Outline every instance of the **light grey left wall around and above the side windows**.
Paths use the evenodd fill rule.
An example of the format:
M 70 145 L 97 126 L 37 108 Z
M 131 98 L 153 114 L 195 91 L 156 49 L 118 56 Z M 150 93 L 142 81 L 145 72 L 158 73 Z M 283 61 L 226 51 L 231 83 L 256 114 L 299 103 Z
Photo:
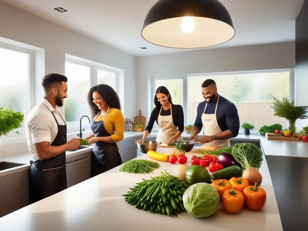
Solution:
M 103 28 L 97 29 L 103 30 Z M 45 56 L 45 63 L 43 63 L 45 70 L 42 75 L 48 73 L 64 75 L 65 54 L 124 70 L 122 85 L 125 86 L 125 89 L 124 95 L 121 97 L 121 104 L 124 106 L 125 117 L 133 118 L 135 116 L 136 58 L 134 56 L 2 1 L 0 1 L 0 37 L 44 49 L 42 53 L 36 52 L 39 56 Z M 41 67 L 43 64 L 41 63 Z M 43 97 L 43 89 L 40 86 L 42 75 L 35 76 L 36 103 Z M 120 86 L 120 90 L 123 89 L 123 86 Z M 126 100 L 124 101 L 124 99 Z

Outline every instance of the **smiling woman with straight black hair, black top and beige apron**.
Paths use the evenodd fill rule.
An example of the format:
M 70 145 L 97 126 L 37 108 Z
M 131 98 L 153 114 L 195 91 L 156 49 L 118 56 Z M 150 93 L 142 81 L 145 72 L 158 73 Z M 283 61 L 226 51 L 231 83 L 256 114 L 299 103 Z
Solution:
M 172 104 L 171 95 L 164 86 L 156 89 L 154 96 L 155 108 L 153 109 L 148 126 L 145 128 L 142 140 L 151 133 L 154 122 L 160 127 L 156 141 L 163 144 L 172 144 L 174 140 L 183 141 L 181 134 L 184 131 L 184 112 L 181 105 Z

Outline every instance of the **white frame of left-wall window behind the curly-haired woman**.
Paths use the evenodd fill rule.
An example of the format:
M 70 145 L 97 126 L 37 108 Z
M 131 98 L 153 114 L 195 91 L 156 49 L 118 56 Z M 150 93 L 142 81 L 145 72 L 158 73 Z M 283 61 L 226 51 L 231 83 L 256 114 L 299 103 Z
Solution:
M 100 65 L 95 65 L 95 64 L 92 64 L 92 63 L 87 63 L 87 62 L 84 62 L 84 61 L 80 61 L 80 60 L 77 60 L 77 59 L 72 59 L 72 58 L 69 58 L 69 57 L 66 57 L 65 58 L 65 63 L 73 63 L 73 64 L 77 64 L 77 65 L 81 65 L 81 66 L 86 66 L 86 67 L 89 67 L 90 68 L 90 79 L 89 79 L 89 90 L 91 87 L 94 87 L 95 85 L 97 85 L 97 70 L 102 70 L 102 71 L 108 71 L 108 72 L 112 72 L 114 73 L 115 77 L 114 77 L 114 86 L 115 86 L 115 92 L 118 94 L 118 89 L 119 89 L 119 71 L 116 71 L 114 69 L 111 69 L 111 68 L 107 68 L 107 67 L 104 67 L 104 65 L 102 64 L 101 66 Z M 63 115 L 65 115 L 65 107 L 63 107 L 61 109 L 61 112 L 63 111 Z M 65 118 L 65 117 L 64 117 Z M 90 118 L 91 120 L 91 118 Z M 84 128 L 85 131 L 87 130 L 90 130 L 91 127 L 90 127 L 90 124 L 87 123 L 88 120 L 83 118 L 83 120 L 81 121 L 81 127 L 82 129 Z M 78 121 L 71 121 L 71 122 L 66 122 L 65 123 L 67 124 L 67 131 L 68 132 L 75 132 L 75 131 L 79 131 L 80 129 L 80 120 Z M 78 132 L 79 133 L 79 132 Z

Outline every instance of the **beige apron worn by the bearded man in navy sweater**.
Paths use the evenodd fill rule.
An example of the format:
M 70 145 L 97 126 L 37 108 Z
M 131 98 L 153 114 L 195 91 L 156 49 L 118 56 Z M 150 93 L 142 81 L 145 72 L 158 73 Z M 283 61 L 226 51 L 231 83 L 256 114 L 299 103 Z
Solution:
M 214 136 L 217 133 L 222 132 L 216 118 L 216 111 L 218 106 L 219 95 L 216 103 L 215 113 L 214 114 L 205 114 L 206 103 L 203 114 L 201 116 L 202 126 L 203 126 L 203 135 L 204 136 Z M 212 142 L 205 143 L 203 146 L 212 146 L 212 147 L 230 147 L 230 141 L 227 140 L 213 140 Z

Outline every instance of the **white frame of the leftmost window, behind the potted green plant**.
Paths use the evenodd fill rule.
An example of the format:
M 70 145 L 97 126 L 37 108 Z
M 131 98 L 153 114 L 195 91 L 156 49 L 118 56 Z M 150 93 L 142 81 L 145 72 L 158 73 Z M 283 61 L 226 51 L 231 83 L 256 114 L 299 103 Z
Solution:
M 26 49 L 23 47 L 14 46 L 7 43 L 1 43 L 0 42 L 0 48 L 15 51 L 23 54 L 28 55 L 28 105 L 27 105 L 27 114 L 24 115 L 24 124 L 26 122 L 27 116 L 29 115 L 29 112 L 31 109 L 35 106 L 35 51 Z M 25 126 L 25 125 L 24 125 Z M 16 132 L 19 132 L 17 134 Z M 13 131 L 9 132 L 6 136 L 0 136 L 0 140 L 5 139 L 11 139 L 11 138 L 17 138 L 17 137 L 23 137 L 26 136 L 26 131 L 24 127 L 14 129 Z

